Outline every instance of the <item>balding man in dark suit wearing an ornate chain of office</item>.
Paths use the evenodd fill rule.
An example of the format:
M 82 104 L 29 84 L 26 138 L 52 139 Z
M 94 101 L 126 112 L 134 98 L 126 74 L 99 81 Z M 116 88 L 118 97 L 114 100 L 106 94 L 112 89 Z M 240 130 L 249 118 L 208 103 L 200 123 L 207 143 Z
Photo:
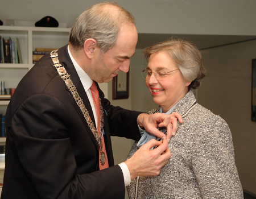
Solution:
M 129 70 L 137 39 L 130 13 L 100 3 L 77 18 L 69 45 L 44 56 L 24 76 L 7 108 L 1 198 L 119 199 L 134 177 L 159 174 L 171 157 L 166 139 L 151 140 L 114 165 L 110 135 L 138 140 L 139 125 L 162 138 L 155 128 L 160 123 L 168 139 L 170 117 L 114 107 L 95 83 Z

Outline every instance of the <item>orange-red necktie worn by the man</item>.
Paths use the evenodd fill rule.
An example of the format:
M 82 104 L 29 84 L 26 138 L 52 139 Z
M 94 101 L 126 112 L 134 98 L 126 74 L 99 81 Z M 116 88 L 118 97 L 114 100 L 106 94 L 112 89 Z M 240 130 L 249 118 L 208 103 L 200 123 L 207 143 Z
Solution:
M 92 97 L 93 97 L 93 102 L 94 102 L 94 106 L 96 109 L 96 114 L 97 114 L 97 130 L 98 130 L 98 135 L 100 136 L 100 127 L 101 127 L 101 108 L 100 108 L 100 97 L 98 96 L 98 89 L 97 86 L 95 84 L 95 82 L 93 81 L 92 86 L 90 86 L 90 92 L 92 93 Z M 108 161 L 108 156 L 106 154 L 106 147 L 105 147 L 105 142 L 104 142 L 104 136 L 102 136 L 102 151 L 105 153 L 106 156 L 106 160 L 105 160 L 105 164 L 102 165 L 100 158 L 101 158 L 101 150 L 100 150 L 100 146 L 99 148 L 99 163 L 100 163 L 100 170 L 108 168 L 109 167 L 109 161 Z

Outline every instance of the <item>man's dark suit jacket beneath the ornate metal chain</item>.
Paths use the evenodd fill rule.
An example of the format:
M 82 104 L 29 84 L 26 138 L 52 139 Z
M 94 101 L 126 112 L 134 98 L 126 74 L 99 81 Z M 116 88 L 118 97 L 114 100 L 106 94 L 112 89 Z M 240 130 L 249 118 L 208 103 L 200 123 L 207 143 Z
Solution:
M 68 55 L 60 63 L 92 109 Z M 99 170 L 98 143 L 49 54 L 24 76 L 6 113 L 6 169 L 1 198 L 124 198 L 121 168 L 114 166 L 110 135 L 140 138 L 140 113 L 110 105 L 100 91 L 110 168 Z

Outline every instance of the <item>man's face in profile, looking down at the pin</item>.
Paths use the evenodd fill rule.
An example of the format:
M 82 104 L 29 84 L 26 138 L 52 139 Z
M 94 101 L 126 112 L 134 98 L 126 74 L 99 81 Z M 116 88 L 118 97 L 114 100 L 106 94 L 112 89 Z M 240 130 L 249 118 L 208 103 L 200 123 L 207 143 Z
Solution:
M 114 47 L 105 53 L 96 47 L 97 56 L 92 62 L 89 76 L 101 83 L 112 81 L 120 71 L 127 73 L 137 41 L 138 33 L 134 24 L 123 24 Z

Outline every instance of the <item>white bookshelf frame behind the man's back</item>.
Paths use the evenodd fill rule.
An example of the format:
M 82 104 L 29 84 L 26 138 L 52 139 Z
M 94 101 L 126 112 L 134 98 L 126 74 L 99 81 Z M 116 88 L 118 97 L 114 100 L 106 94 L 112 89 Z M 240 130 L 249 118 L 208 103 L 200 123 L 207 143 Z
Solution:
M 35 48 L 60 48 L 68 44 L 71 28 L 0 26 L 0 35 L 7 39 L 19 39 L 22 64 L 0 63 L 0 81 L 5 88 L 16 88 L 22 77 L 34 66 L 32 60 Z M 0 113 L 6 113 L 9 100 L 0 100 Z M 0 138 L 5 145 L 6 138 Z

